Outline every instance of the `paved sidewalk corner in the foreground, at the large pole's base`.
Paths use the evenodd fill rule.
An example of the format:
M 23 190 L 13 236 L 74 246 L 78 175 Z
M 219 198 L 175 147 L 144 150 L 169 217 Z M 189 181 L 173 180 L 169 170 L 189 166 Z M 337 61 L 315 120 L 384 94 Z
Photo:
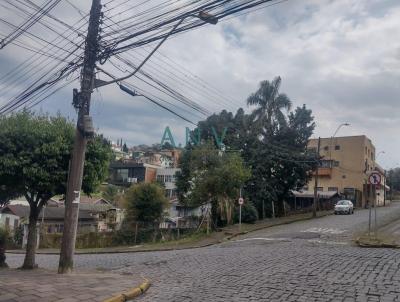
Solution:
M 142 278 L 131 275 L 95 272 L 60 275 L 43 269 L 0 269 L 0 301 L 104 301 L 142 282 Z

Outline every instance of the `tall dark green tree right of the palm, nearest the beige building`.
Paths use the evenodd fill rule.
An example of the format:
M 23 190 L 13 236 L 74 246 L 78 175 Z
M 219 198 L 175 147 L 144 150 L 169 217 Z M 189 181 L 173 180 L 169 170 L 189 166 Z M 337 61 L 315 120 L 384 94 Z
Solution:
M 307 151 L 314 127 L 311 110 L 298 107 L 274 135 L 257 140 L 249 150 L 252 178 L 246 192 L 260 216 L 273 212 L 275 206 L 276 214 L 284 214 L 284 200 L 290 197 L 290 191 L 307 184 L 316 164 L 315 154 Z

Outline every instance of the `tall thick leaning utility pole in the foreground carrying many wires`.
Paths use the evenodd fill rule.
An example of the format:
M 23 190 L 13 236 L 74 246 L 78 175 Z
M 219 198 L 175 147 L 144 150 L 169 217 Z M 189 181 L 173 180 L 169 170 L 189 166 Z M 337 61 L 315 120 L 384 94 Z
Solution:
M 90 98 L 94 87 L 95 66 L 98 51 L 98 35 L 101 18 L 100 0 L 92 0 L 88 34 L 85 42 L 85 57 L 81 71 L 81 91 L 74 90 L 74 106 L 78 110 L 74 149 L 68 174 L 67 195 L 65 200 L 64 231 L 61 244 L 59 273 L 69 273 L 73 269 L 75 240 L 78 226 L 80 191 L 82 187 L 83 167 L 86 143 L 94 134 L 89 116 Z

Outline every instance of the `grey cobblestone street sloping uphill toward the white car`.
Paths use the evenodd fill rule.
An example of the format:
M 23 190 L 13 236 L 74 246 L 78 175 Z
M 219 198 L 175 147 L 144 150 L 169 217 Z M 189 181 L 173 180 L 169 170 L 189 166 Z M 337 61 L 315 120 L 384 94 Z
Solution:
M 400 217 L 400 204 L 378 209 Z M 383 219 L 384 218 L 384 219 Z M 149 277 L 138 301 L 400 301 L 400 254 L 358 248 L 368 211 L 328 216 L 250 233 L 208 248 L 112 255 L 78 255 L 76 266 Z M 19 255 L 8 262 L 18 265 Z M 57 257 L 39 255 L 40 266 Z M 128 276 L 127 276 L 128 277 Z

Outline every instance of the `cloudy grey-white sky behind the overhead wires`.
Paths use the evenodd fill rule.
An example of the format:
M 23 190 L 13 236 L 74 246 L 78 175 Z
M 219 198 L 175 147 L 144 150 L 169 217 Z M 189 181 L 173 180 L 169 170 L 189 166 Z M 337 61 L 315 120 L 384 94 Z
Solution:
M 70 2 L 82 12 L 89 10 L 89 1 Z M 133 0 L 121 7 L 122 11 L 129 13 L 129 2 Z M 71 24 L 80 17 L 71 7 L 58 8 L 54 14 Z M 4 10 L 0 17 L 7 17 Z M 109 17 L 115 22 L 122 19 L 121 15 Z M 0 33 L 9 31 L 0 23 Z M 38 31 L 46 34 L 45 29 Z M 391 168 L 400 166 L 399 37 L 398 0 L 287 0 L 177 35 L 161 46 L 144 70 L 210 112 L 235 112 L 239 107 L 250 111 L 246 98 L 259 83 L 281 76 L 281 92 L 290 97 L 294 107 L 306 104 L 313 111 L 314 137 L 330 137 L 340 124 L 350 123 L 338 136 L 368 136 L 379 154 L 377 161 Z M 139 50 L 130 52 L 137 62 L 144 57 Z M 24 60 L 26 53 L 15 46 L 0 50 L 0 78 Z M 131 83 L 142 85 L 136 79 Z M 190 86 L 193 84 L 196 90 Z M 78 82 L 40 103 L 36 110 L 59 111 L 74 119 L 73 87 L 78 87 Z M 4 100 L 0 95 L 0 104 Z M 180 112 L 195 123 L 205 118 Z M 193 128 L 116 86 L 94 92 L 91 114 L 98 132 L 114 141 L 122 138 L 128 145 L 159 143 L 166 126 L 176 142 L 184 143 L 185 127 Z

